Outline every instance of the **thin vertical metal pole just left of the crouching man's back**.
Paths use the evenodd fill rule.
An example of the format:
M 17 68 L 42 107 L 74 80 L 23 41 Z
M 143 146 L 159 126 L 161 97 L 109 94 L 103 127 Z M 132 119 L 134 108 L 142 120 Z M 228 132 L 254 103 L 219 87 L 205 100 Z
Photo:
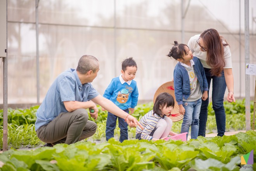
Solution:
M 38 49 L 38 3 L 36 0 L 36 97 L 37 103 L 40 103 L 40 82 L 39 82 L 39 49 Z

